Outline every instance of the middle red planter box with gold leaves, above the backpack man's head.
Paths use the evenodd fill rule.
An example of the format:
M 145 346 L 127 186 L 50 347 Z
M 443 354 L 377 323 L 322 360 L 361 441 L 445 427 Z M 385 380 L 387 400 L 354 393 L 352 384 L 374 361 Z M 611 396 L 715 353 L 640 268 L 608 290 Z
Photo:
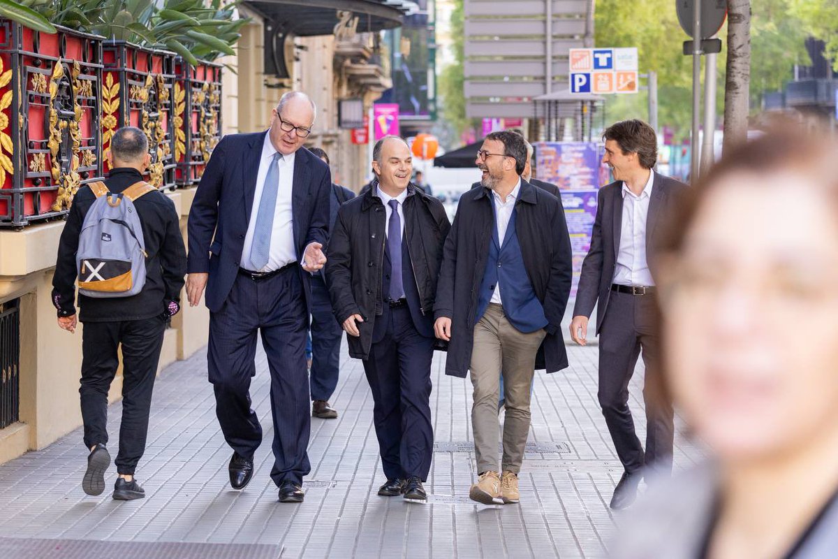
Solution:
M 174 53 L 151 50 L 125 41 L 102 45 L 102 158 L 117 128 L 146 132 L 152 163 L 145 175 L 158 189 L 175 186 L 173 86 Z

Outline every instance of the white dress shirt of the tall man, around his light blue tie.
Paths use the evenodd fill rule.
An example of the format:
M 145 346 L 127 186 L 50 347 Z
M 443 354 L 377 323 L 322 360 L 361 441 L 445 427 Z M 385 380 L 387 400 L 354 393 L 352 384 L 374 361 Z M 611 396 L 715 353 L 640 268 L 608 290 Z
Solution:
M 291 196 L 294 184 L 294 159 L 297 153 L 283 156 L 278 162 L 279 166 L 279 189 L 277 190 L 277 205 L 273 214 L 273 230 L 271 233 L 271 252 L 267 264 L 261 270 L 251 263 L 251 248 L 253 246 L 253 235 L 256 231 L 256 216 L 259 215 L 259 202 L 261 201 L 262 190 L 265 188 L 265 178 L 271 165 L 271 159 L 277 150 L 271 143 L 271 138 L 265 132 L 265 141 L 262 143 L 261 157 L 259 158 L 259 173 L 256 174 L 256 191 L 253 193 L 253 207 L 251 208 L 251 220 L 247 225 L 245 246 L 241 251 L 241 267 L 254 272 L 272 272 L 283 266 L 297 261 L 297 249 L 294 247 L 293 213 Z M 303 255 L 300 255 L 301 257 Z

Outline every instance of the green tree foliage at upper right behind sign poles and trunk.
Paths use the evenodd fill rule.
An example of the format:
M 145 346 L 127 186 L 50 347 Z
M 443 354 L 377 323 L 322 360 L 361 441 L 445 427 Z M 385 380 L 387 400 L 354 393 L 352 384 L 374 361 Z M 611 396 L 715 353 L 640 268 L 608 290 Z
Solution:
M 795 64 L 806 64 L 806 33 L 799 18 L 789 13 L 794 3 L 812 0 L 760 0 L 752 5 L 751 28 L 751 110 L 760 108 L 763 91 L 782 89 L 791 80 Z M 832 3 L 834 0 L 816 0 Z M 838 21 L 833 29 L 838 28 Z M 595 41 L 603 47 L 637 47 L 640 71 L 658 73 L 660 126 L 675 129 L 675 137 L 686 137 L 691 128 L 692 59 L 682 54 L 689 39 L 680 28 L 673 0 L 621 2 L 598 0 L 595 13 Z M 724 65 L 727 57 L 727 24 L 716 35 L 722 39 L 717 56 L 718 93 L 716 107 L 724 111 Z M 701 72 L 704 80 L 704 70 Z M 607 101 L 609 122 L 623 118 L 648 118 L 647 97 L 612 96 Z

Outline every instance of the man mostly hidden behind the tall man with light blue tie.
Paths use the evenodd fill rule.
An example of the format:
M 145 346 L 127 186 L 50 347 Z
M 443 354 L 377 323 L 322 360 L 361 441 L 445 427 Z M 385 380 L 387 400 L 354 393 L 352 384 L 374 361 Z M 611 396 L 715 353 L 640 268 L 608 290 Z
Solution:
M 328 153 L 322 148 L 311 148 L 311 153 L 321 158 L 328 165 Z M 328 230 L 334 228 L 338 218 L 338 209 L 344 202 L 353 199 L 351 190 L 332 184 L 328 196 Z M 338 386 L 340 370 L 340 340 L 344 330 L 334 318 L 332 302 L 328 298 L 325 273 L 323 270 L 312 276 L 312 362 L 308 371 L 308 380 L 312 391 L 312 417 L 336 419 L 338 411 L 328 403 Z

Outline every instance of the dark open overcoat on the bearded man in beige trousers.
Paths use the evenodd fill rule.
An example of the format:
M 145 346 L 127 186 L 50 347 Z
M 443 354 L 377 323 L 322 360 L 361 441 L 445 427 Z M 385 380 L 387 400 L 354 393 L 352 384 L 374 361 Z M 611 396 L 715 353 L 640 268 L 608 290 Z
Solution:
M 471 366 L 478 292 L 495 228 L 488 190 L 463 194 L 445 241 L 433 310 L 435 318 L 451 318 L 446 375 L 464 377 Z M 572 253 L 565 213 L 556 196 L 522 179 L 515 215 L 524 267 L 548 321 L 535 368 L 552 373 L 567 366 L 561 319 L 571 291 Z

